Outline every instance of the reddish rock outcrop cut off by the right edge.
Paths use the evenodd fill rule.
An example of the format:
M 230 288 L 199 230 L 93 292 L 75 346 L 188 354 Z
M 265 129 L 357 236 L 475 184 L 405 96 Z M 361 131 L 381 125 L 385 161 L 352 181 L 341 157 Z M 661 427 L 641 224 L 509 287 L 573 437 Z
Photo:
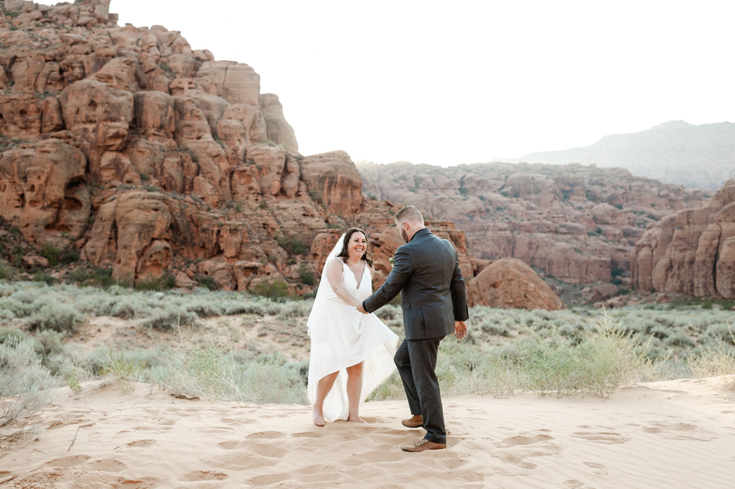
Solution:
M 735 298 L 735 178 L 695 209 L 649 225 L 631 272 L 639 290 Z

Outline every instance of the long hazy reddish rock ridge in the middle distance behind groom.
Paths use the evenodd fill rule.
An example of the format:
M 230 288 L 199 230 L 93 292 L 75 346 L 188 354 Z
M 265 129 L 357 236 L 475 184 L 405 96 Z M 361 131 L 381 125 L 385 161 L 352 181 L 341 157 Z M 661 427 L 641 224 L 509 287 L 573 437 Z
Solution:
M 698 190 L 580 164 L 368 163 L 358 169 L 365 195 L 456 222 L 477 256 L 520 258 L 569 283 L 625 274 L 647 225 L 703 199 Z

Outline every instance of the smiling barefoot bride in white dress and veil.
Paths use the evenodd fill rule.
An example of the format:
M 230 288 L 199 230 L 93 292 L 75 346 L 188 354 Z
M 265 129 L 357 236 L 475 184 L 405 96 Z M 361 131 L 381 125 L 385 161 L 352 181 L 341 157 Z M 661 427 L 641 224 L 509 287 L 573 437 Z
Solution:
M 312 339 L 306 396 L 317 426 L 365 423 L 360 405 L 395 369 L 398 336 L 375 314 L 355 308 L 373 293 L 373 272 L 365 232 L 348 229 L 326 258 L 306 323 Z

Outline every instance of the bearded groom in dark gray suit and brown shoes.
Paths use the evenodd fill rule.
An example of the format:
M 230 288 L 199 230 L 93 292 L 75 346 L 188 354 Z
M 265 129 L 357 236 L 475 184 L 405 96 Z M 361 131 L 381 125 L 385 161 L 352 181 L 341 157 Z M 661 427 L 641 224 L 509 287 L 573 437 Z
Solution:
M 434 370 L 440 341 L 451 333 L 459 339 L 467 336 L 465 280 L 451 243 L 426 229 L 418 209 L 404 206 L 395 213 L 395 225 L 406 245 L 395 250 L 393 269 L 383 286 L 357 310 L 369 314 L 401 292 L 406 338 L 394 360 L 413 415 L 403 424 L 426 430 L 421 441 L 404 451 L 444 449 L 447 434 Z

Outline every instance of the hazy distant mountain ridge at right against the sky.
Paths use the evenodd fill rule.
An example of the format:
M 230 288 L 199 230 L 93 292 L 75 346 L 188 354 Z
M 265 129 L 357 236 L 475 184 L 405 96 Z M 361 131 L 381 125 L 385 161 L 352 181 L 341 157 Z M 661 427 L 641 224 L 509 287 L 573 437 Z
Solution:
M 492 162 L 597 164 L 625 168 L 668 184 L 715 190 L 735 176 L 735 123 L 695 126 L 671 120 L 646 131 L 610 134 L 584 148 L 540 151 Z

